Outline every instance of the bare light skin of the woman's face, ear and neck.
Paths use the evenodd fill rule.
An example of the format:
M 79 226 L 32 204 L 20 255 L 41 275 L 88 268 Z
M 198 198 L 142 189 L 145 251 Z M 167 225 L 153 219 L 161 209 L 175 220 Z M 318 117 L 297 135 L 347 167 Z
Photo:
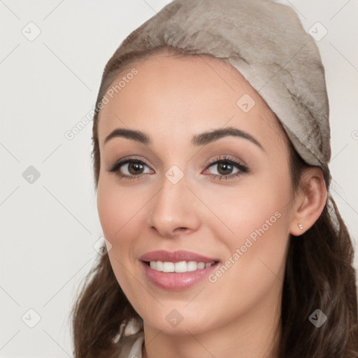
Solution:
M 304 187 L 293 191 L 287 137 L 278 119 L 221 59 L 159 52 L 133 67 L 138 74 L 99 115 L 97 207 L 115 276 L 144 321 L 143 357 L 277 357 L 268 347 L 280 338 L 289 234 L 301 235 L 322 213 L 327 200 L 322 172 L 308 169 Z M 248 113 L 236 104 L 243 94 L 256 103 Z M 236 136 L 191 144 L 194 134 L 223 127 L 247 132 L 264 150 Z M 103 144 L 116 128 L 144 131 L 153 143 L 117 137 Z M 232 177 L 239 171 L 234 166 L 226 172 L 231 178 L 214 179 L 210 174 L 223 171 L 208 163 L 223 155 L 250 172 Z M 108 171 L 117 160 L 134 156 L 145 164 L 139 179 Z M 175 185 L 165 176 L 173 165 L 184 175 Z M 127 164 L 120 170 L 134 176 Z M 139 257 L 152 250 L 189 250 L 224 263 L 275 212 L 280 218 L 216 282 L 205 279 L 169 292 L 143 272 Z M 183 317 L 177 327 L 166 321 L 173 309 Z

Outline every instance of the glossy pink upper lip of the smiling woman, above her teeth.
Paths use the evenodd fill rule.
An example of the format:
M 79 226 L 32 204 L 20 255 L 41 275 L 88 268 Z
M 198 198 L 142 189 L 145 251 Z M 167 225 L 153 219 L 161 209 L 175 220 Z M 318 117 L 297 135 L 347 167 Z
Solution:
M 157 250 L 147 252 L 146 254 L 140 257 L 142 261 L 162 261 L 162 262 L 180 262 L 180 261 L 196 261 L 203 262 L 204 264 L 209 264 L 210 262 L 218 262 L 219 260 L 206 257 L 203 255 L 198 255 L 195 252 L 180 250 L 180 251 L 165 251 Z

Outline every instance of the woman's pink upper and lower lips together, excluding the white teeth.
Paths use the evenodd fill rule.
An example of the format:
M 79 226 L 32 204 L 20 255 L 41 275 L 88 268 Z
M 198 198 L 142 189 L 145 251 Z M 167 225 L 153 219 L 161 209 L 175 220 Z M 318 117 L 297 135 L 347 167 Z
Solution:
M 201 282 L 208 275 L 217 268 L 218 260 L 202 255 L 197 255 L 189 251 L 169 252 L 164 250 L 148 252 L 141 256 L 141 266 L 145 272 L 146 277 L 152 284 L 162 289 L 171 291 L 180 291 L 187 289 Z M 180 262 L 180 261 L 196 261 L 204 262 L 206 264 L 215 262 L 210 267 L 201 268 L 196 271 L 189 271 L 183 273 L 176 272 L 162 272 L 151 268 L 148 264 L 150 261 L 162 262 Z

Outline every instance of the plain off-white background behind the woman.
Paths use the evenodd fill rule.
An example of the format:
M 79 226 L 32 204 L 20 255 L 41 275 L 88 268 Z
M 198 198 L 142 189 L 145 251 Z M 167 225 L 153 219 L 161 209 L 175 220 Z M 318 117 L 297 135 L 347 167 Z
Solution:
M 0 357 L 72 357 L 69 309 L 102 236 L 93 185 L 92 122 L 64 134 L 93 108 L 103 67 L 132 30 L 170 1 L 0 1 Z M 317 42 L 331 108 L 331 192 L 358 237 L 358 36 L 356 0 L 280 1 Z M 23 34 L 34 22 L 41 34 Z M 40 177 L 22 176 L 34 166 Z M 355 267 L 358 268 L 357 255 Z M 34 328 L 35 313 L 41 316 Z M 31 317 L 31 318 L 30 318 Z

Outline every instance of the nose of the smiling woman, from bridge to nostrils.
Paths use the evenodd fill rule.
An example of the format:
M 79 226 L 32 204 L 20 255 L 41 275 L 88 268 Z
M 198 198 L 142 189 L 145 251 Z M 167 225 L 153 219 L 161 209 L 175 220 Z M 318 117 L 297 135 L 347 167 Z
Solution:
M 199 199 L 188 186 L 185 176 L 176 184 L 164 177 L 162 188 L 150 201 L 151 230 L 164 238 L 174 238 L 199 229 Z

